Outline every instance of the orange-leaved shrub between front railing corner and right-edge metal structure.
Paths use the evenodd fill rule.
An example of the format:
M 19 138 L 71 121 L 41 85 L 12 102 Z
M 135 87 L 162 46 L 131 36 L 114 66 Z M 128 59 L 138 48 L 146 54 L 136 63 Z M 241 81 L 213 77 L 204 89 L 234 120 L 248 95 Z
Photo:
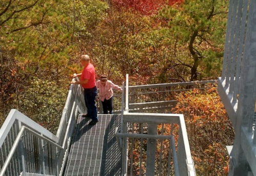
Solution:
M 215 84 L 176 95 L 175 113 L 183 114 L 197 175 L 227 175 L 234 131 Z

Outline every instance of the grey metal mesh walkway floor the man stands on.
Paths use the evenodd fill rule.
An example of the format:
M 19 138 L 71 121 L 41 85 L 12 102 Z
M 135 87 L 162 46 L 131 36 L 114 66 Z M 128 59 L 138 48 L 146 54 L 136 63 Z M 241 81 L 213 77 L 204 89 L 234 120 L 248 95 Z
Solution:
M 99 115 L 90 126 L 89 118 L 78 117 L 65 176 L 120 176 L 121 151 L 114 137 L 120 120 L 120 115 Z

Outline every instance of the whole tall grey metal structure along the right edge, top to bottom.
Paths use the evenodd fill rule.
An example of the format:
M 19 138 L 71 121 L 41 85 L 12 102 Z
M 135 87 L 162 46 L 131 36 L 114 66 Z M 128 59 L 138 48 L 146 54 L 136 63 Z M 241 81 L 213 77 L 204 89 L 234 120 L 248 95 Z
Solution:
M 218 92 L 235 130 L 229 175 L 256 175 L 255 21 L 256 1 L 230 0 L 223 70 L 218 79 Z

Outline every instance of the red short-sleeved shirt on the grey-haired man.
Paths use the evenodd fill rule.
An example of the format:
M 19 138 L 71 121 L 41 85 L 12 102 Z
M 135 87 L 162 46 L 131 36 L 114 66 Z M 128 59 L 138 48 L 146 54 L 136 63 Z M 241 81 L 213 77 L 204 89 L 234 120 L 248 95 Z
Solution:
M 89 80 L 87 84 L 82 84 L 84 89 L 90 89 L 96 86 L 95 69 L 91 63 L 89 63 L 82 72 L 81 81 L 83 81 L 84 79 Z

